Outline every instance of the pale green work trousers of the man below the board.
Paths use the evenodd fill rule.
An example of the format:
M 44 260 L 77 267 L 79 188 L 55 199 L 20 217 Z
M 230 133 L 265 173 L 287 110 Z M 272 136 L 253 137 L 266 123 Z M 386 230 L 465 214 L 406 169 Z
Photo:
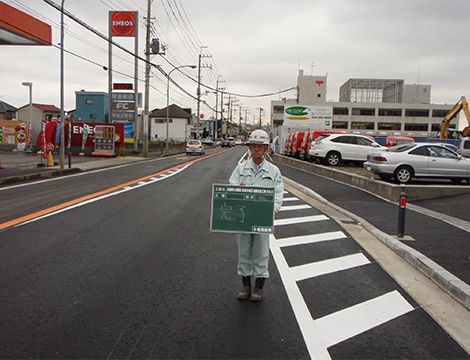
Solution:
M 269 234 L 237 233 L 238 275 L 269 277 Z

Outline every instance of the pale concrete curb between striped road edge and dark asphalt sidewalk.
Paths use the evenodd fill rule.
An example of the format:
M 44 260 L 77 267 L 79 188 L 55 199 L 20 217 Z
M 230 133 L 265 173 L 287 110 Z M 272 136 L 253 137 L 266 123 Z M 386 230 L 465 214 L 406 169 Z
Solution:
M 328 205 L 336 211 L 354 219 L 360 223 L 364 229 L 374 235 L 377 239 L 387 245 L 390 249 L 394 250 L 398 255 L 408 261 L 416 269 L 426 275 L 431 281 L 437 284 L 442 290 L 452 296 L 457 302 L 464 306 L 467 310 L 470 310 L 470 286 L 460 280 L 455 275 L 444 269 L 442 266 L 436 264 L 431 259 L 427 258 L 419 251 L 403 244 L 394 237 L 384 233 L 377 229 L 372 224 L 364 220 L 363 218 L 353 214 L 341 207 L 329 202 L 312 189 L 307 188 L 301 184 L 294 182 L 286 177 L 283 177 L 284 182 L 293 188 L 303 192 L 304 194 L 311 196 L 318 201 Z

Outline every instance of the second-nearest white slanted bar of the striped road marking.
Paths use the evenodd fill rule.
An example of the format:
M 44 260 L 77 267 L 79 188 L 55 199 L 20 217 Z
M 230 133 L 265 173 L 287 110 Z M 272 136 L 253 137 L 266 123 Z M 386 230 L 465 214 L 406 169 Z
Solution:
M 292 272 L 294 279 L 296 281 L 300 281 L 367 264 L 370 264 L 369 259 L 367 259 L 363 254 L 358 253 L 342 256 L 336 259 L 328 259 L 315 263 L 294 266 L 290 268 L 290 271 Z

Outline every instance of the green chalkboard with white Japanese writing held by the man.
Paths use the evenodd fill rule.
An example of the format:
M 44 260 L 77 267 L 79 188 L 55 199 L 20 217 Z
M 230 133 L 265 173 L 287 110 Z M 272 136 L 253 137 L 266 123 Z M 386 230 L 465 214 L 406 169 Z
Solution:
M 271 187 L 212 185 L 211 231 L 274 233 Z

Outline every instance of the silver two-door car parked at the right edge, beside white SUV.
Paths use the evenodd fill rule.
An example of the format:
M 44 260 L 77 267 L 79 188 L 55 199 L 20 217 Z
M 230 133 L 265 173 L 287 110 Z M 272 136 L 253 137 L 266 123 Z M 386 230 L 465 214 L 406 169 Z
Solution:
M 370 152 L 364 168 L 383 180 L 407 184 L 412 178 L 444 178 L 470 182 L 470 159 L 442 145 L 411 143 Z

